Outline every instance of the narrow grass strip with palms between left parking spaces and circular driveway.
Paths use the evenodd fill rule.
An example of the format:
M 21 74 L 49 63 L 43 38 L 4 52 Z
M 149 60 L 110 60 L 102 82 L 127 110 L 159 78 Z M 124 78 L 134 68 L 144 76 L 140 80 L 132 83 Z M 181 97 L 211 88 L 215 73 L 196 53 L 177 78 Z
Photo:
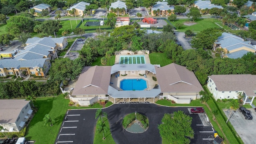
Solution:
M 98 118 L 98 122 L 100 122 L 101 118 Z M 108 128 L 108 130 L 104 133 L 104 137 L 106 138 L 105 140 L 102 140 L 103 138 L 103 132 L 95 132 L 94 135 L 94 144 L 115 144 L 114 139 L 112 138 L 111 132 L 110 132 L 110 127 L 108 124 L 108 119 L 106 117 L 103 117 L 103 121 L 106 124 L 106 127 Z M 98 129 L 98 128 L 96 128 Z

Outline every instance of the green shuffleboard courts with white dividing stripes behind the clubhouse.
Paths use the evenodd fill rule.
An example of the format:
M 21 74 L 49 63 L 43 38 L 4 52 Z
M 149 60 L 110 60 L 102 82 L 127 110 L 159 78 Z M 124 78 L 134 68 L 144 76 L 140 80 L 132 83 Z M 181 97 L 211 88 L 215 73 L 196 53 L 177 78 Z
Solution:
M 120 56 L 119 64 L 145 64 L 145 56 Z

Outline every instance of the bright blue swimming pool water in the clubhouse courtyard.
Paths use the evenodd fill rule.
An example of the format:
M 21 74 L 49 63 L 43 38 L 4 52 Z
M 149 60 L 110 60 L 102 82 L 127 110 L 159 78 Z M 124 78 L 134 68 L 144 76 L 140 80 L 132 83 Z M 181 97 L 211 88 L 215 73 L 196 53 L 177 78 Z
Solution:
M 144 90 L 147 88 L 146 80 L 143 79 L 126 79 L 120 81 L 122 90 Z

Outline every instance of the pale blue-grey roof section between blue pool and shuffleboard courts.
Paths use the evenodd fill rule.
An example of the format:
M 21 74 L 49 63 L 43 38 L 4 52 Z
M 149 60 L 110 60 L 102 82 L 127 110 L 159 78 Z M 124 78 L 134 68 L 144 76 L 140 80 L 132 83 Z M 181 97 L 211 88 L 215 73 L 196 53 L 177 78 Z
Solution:
M 148 70 L 156 74 L 155 66 L 152 64 L 115 64 L 111 68 L 110 74 L 114 74 L 118 71 L 137 71 Z

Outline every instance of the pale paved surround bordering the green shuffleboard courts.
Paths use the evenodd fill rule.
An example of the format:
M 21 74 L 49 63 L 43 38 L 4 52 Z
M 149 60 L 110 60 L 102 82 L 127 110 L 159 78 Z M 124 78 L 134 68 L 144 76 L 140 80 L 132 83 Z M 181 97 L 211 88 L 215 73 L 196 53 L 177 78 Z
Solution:
M 129 54 L 128 54 L 129 53 Z M 116 52 L 116 59 L 115 64 L 119 64 L 120 62 L 120 56 L 144 56 L 145 58 L 145 64 L 150 64 L 150 59 L 148 53 L 146 54 L 146 51 L 138 51 L 137 54 L 134 54 L 132 51 L 123 50 L 121 52 Z

